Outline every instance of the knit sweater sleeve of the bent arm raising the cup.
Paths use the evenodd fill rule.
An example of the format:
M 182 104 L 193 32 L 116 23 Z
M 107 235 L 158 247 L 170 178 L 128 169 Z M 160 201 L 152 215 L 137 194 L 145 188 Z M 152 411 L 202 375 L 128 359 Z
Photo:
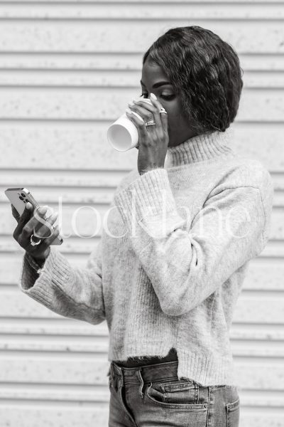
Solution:
M 265 212 L 254 186 L 226 188 L 192 217 L 180 216 L 168 172 L 153 169 L 116 194 L 131 244 L 160 307 L 178 316 L 197 307 L 264 247 Z

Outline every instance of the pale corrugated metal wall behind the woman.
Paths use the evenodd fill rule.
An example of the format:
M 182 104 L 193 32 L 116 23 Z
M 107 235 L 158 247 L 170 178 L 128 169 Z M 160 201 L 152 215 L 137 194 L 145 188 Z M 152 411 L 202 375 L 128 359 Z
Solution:
M 23 251 L 3 194 L 26 186 L 58 209 L 104 214 L 137 151 L 107 127 L 140 95 L 143 52 L 173 26 L 199 25 L 239 53 L 244 92 L 234 147 L 263 162 L 275 199 L 268 246 L 251 261 L 231 328 L 240 427 L 284 426 L 284 1 L 0 1 L 0 427 L 107 427 L 108 331 L 21 294 Z M 92 212 L 77 216 L 89 236 Z M 60 248 L 84 265 L 98 237 Z

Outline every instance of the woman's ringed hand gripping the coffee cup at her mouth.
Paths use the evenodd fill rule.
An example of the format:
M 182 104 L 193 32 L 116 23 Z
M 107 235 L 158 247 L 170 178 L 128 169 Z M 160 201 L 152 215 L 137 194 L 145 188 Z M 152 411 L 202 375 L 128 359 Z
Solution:
M 165 155 L 168 149 L 168 115 L 166 112 L 160 112 L 163 107 L 155 95 L 151 93 L 151 102 L 143 100 L 133 101 L 134 105 L 129 105 L 129 108 L 141 116 L 141 120 L 135 114 L 129 114 L 126 110 L 126 115 L 129 120 L 136 125 L 139 135 L 138 146 L 138 172 L 140 175 L 151 169 L 164 167 Z M 154 120 L 155 125 L 147 126 L 146 122 Z

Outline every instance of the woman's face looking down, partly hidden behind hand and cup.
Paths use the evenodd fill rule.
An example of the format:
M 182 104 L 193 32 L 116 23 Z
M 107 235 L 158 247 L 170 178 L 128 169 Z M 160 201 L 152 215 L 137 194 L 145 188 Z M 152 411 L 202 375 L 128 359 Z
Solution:
M 148 57 L 149 58 L 149 57 Z M 168 147 L 174 147 L 197 135 L 190 128 L 190 123 L 181 115 L 180 94 L 175 93 L 162 68 L 151 60 L 146 59 L 142 68 L 141 88 L 144 97 L 154 93 L 158 101 L 168 112 Z

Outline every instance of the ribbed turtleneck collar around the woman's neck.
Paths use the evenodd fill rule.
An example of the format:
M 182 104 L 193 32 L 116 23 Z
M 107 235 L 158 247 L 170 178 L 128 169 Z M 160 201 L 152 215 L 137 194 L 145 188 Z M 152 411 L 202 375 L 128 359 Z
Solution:
M 206 132 L 189 138 L 175 147 L 168 147 L 166 164 L 168 167 L 182 164 L 205 162 L 224 155 L 234 154 L 231 144 L 232 131 Z

